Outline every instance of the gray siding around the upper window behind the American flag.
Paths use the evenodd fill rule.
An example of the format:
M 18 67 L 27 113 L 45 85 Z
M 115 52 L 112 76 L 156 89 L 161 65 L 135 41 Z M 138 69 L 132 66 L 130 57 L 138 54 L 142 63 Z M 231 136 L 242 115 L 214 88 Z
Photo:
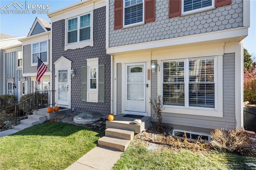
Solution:
M 48 41 L 49 45 L 49 51 L 48 51 L 48 61 L 50 61 L 50 41 Z M 24 45 L 23 46 L 23 73 L 36 73 L 37 72 L 37 65 L 31 66 L 31 48 L 32 44 Z M 50 65 L 46 65 L 46 67 L 50 68 Z M 49 71 L 49 69 L 46 70 L 46 72 Z

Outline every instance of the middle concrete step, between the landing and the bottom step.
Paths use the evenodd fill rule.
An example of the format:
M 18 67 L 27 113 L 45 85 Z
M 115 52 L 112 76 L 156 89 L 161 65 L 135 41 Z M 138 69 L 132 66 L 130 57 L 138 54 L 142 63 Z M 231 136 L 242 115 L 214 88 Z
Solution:
M 105 130 L 105 135 L 109 137 L 132 140 L 134 137 L 134 131 L 118 128 L 107 128 Z

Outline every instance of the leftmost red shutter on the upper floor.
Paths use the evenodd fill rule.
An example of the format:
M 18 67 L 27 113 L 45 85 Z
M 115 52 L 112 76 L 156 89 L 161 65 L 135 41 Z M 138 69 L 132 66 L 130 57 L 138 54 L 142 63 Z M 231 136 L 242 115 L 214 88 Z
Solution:
M 123 1 L 114 1 L 114 29 L 120 29 L 123 26 Z

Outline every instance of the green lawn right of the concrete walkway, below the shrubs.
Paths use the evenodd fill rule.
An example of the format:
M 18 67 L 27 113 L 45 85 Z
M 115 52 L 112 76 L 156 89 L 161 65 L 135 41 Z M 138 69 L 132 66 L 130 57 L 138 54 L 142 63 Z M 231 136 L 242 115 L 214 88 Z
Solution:
M 113 170 L 250 170 L 245 163 L 256 158 L 220 152 L 173 151 L 170 148 L 148 150 L 142 141 L 132 141 Z

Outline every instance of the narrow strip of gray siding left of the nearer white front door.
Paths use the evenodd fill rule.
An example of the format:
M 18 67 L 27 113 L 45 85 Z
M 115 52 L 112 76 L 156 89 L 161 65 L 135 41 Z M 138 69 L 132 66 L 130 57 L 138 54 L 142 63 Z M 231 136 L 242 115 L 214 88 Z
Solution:
M 122 64 L 116 64 L 116 113 L 122 114 Z

